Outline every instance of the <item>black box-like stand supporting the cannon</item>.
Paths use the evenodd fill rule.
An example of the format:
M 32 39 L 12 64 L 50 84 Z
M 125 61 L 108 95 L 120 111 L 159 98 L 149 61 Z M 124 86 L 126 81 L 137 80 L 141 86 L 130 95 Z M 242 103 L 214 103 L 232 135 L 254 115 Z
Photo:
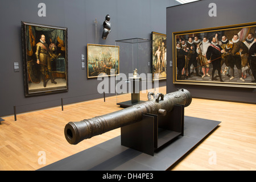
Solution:
M 184 105 L 174 105 L 165 116 L 144 114 L 142 121 L 121 127 L 122 146 L 154 156 L 184 135 Z

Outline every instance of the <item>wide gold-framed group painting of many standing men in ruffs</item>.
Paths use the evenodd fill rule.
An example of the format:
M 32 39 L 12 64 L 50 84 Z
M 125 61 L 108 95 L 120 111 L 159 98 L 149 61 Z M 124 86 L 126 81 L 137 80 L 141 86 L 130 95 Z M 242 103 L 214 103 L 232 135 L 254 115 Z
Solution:
M 173 32 L 174 84 L 256 88 L 256 23 Z

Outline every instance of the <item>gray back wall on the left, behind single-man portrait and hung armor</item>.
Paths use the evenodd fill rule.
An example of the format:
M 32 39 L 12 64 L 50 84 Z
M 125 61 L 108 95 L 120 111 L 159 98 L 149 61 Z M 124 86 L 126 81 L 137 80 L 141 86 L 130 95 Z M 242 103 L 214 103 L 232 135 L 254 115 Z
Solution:
M 39 3 L 46 4 L 45 17 L 38 16 Z M 174 0 L 0 1 L 0 117 L 14 114 L 14 106 L 21 113 L 59 106 L 61 98 L 64 104 L 71 104 L 103 97 L 97 92 L 100 81 L 88 79 L 86 69 L 81 69 L 81 54 L 86 56 L 86 44 L 115 45 L 119 39 L 150 39 L 152 31 L 166 34 L 166 7 L 178 4 Z M 107 14 L 111 18 L 111 33 L 102 40 L 101 28 Z M 67 93 L 24 97 L 21 21 L 68 28 Z M 19 72 L 14 72 L 15 62 L 19 63 Z

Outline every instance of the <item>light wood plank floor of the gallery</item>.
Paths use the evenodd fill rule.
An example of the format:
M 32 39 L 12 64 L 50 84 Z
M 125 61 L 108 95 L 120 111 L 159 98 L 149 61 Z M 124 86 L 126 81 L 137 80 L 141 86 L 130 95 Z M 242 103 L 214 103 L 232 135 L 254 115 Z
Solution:
M 160 88 L 166 93 L 166 87 Z M 141 100 L 146 100 L 141 94 Z M 130 100 L 130 94 L 118 101 Z M 117 98 L 107 97 L 77 104 L 53 107 L 14 116 L 2 117 L 0 125 L 0 170 L 35 170 L 86 148 L 120 135 L 120 129 L 109 131 L 77 145 L 65 140 L 64 126 L 97 115 L 121 110 Z M 255 170 L 256 105 L 193 98 L 185 115 L 221 121 L 220 126 L 194 148 L 172 170 Z M 46 164 L 42 154 L 46 156 Z

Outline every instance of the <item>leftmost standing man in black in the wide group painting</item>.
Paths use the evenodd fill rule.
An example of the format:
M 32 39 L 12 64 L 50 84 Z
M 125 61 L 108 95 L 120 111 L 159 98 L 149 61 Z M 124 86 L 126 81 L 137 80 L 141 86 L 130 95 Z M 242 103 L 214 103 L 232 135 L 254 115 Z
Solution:
M 180 48 L 180 44 L 176 45 L 176 56 L 177 56 L 177 80 L 181 79 L 181 71 L 185 67 L 185 55 L 188 55 L 188 50 Z

